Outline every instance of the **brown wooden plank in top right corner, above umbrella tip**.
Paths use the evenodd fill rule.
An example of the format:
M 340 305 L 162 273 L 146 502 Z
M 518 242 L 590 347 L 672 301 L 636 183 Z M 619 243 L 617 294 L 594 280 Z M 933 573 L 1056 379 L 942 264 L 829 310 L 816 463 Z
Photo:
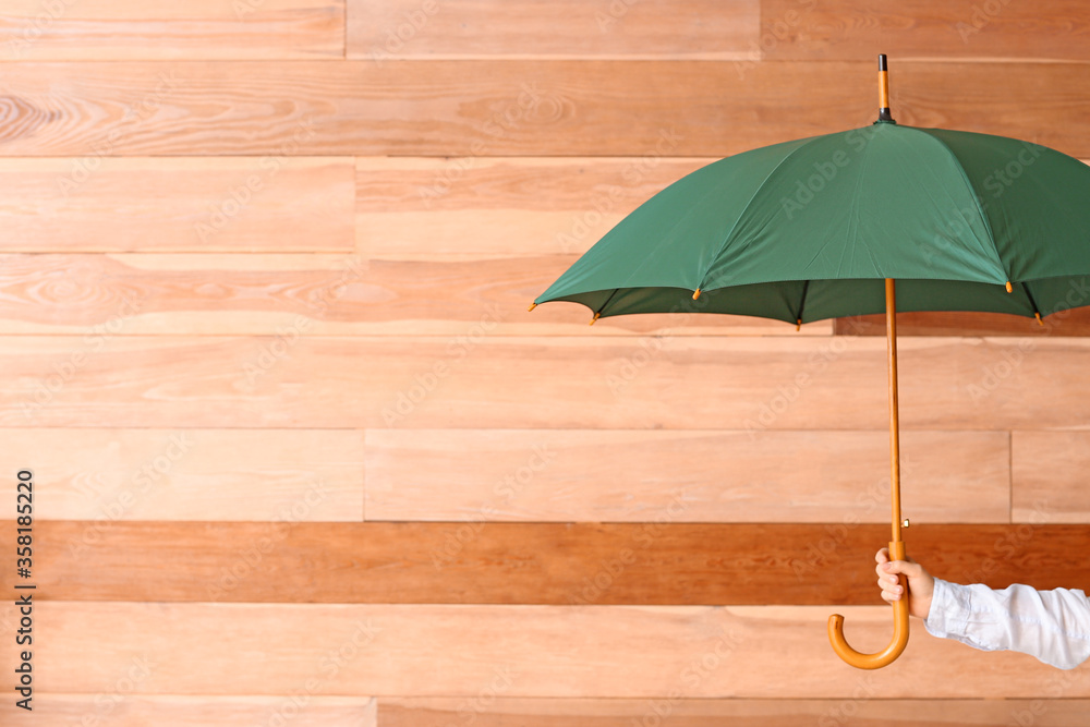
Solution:
M 892 75 L 903 60 L 1090 60 L 1090 12 L 1078 0 L 1044 10 L 1009 0 L 762 0 L 761 11 L 766 60 L 851 60 L 877 48 Z

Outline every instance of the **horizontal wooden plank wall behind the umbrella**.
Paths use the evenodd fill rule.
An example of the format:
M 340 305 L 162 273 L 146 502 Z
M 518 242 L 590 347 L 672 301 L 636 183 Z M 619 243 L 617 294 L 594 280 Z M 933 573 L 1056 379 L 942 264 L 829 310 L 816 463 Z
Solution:
M 8 0 L 0 565 L 33 716 L 1086 723 L 1086 669 L 886 643 L 873 322 L 526 304 L 718 157 L 903 123 L 1090 158 L 1076 0 Z M 1085 587 L 1085 315 L 909 316 L 909 553 Z M 809 384 L 792 381 L 809 374 Z M 5 595 L 4 601 L 10 598 Z

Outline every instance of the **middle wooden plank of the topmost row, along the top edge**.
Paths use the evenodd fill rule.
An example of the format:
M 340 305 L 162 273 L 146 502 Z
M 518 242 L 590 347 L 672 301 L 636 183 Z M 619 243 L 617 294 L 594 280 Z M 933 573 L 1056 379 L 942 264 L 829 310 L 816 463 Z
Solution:
M 760 0 L 349 0 L 350 58 L 756 60 Z M 548 33 L 542 33 L 548 28 Z

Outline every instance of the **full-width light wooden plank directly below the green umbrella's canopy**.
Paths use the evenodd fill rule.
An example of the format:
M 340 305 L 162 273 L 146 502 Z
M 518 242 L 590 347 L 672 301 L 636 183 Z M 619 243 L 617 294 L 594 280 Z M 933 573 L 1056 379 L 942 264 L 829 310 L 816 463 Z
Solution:
M 1083 427 L 1088 348 L 907 338 L 903 426 Z M 885 356 L 848 337 L 11 336 L 0 425 L 881 431 Z

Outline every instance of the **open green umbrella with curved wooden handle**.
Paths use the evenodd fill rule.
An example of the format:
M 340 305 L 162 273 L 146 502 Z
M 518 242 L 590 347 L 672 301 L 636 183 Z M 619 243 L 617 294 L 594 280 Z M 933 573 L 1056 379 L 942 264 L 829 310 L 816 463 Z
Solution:
M 594 317 L 703 312 L 801 325 L 886 314 L 894 559 L 900 529 L 896 310 L 1046 316 L 1090 303 L 1090 168 L 1002 136 L 897 124 L 885 56 L 870 126 L 746 152 L 671 184 L 621 220 L 535 301 Z M 896 280 L 896 288 L 894 281 Z M 904 583 L 903 583 L 904 585 Z M 908 642 L 846 662 L 877 668 Z

